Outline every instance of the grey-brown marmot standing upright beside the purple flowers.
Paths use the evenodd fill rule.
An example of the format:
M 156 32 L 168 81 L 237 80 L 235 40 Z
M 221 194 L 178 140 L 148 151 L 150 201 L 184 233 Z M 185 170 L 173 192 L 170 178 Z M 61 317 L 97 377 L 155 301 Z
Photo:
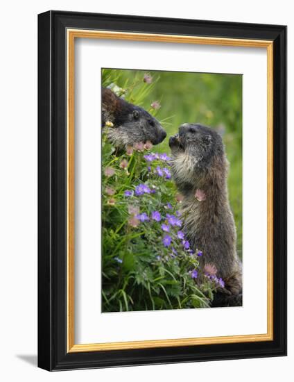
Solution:
M 183 195 L 184 229 L 191 247 L 201 249 L 200 269 L 209 264 L 225 281 L 211 306 L 242 305 L 241 261 L 227 194 L 227 158 L 220 135 L 201 124 L 182 124 L 169 139 L 173 179 Z

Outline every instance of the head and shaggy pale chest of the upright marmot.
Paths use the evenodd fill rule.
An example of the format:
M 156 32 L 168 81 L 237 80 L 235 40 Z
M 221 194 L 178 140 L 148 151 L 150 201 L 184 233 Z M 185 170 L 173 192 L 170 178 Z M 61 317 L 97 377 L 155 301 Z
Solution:
M 225 180 L 227 160 L 223 141 L 214 129 L 201 124 L 182 124 L 169 139 L 175 183 L 184 194 Z

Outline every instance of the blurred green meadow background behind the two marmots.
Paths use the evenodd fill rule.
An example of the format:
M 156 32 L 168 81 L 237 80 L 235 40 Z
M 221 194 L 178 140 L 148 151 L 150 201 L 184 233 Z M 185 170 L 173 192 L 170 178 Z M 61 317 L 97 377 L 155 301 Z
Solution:
M 215 128 L 222 136 L 230 162 L 228 188 L 237 229 L 237 250 L 242 256 L 242 76 L 187 72 L 103 69 L 103 86 L 126 90 L 126 100 L 148 110 L 162 122 L 167 138 L 155 151 L 168 153 L 168 137 L 184 122 Z M 144 75 L 150 75 L 150 83 Z M 159 101 L 160 108 L 151 107 Z

